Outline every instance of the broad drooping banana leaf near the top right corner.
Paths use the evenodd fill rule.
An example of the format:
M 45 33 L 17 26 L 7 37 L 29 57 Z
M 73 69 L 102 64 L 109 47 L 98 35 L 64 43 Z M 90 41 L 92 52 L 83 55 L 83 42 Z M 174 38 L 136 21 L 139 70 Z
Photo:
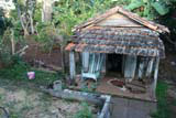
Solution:
M 161 15 L 165 15 L 166 13 L 168 13 L 169 9 L 161 2 L 153 2 L 152 7 L 161 14 Z

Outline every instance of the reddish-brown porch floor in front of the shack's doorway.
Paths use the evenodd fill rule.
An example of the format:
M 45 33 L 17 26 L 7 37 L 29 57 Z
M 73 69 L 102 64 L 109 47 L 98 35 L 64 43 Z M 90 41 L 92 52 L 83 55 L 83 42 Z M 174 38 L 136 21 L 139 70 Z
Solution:
M 121 88 L 109 84 L 108 82 L 110 79 L 114 79 L 114 77 L 100 78 L 97 82 L 97 87 L 95 88 L 95 90 L 97 93 L 107 94 L 114 97 L 117 96 L 117 97 L 124 97 L 124 98 L 132 98 L 132 99 L 147 100 L 147 101 L 156 101 L 156 97 L 152 93 L 151 86 L 147 86 L 146 93 L 133 94 L 129 90 L 122 90 Z M 85 84 L 88 87 L 90 87 L 92 84 L 96 84 L 96 82 L 94 82 L 92 79 L 86 79 L 84 81 L 85 84 L 82 85 L 80 77 L 77 77 L 76 83 L 77 83 L 77 87 L 74 89 L 81 89 L 85 86 Z

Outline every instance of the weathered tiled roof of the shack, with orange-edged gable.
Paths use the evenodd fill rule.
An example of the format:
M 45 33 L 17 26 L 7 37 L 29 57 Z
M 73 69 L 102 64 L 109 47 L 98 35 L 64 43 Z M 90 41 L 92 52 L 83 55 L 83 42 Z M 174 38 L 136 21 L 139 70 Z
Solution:
M 119 11 L 130 19 L 139 21 L 143 26 L 97 25 L 103 19 Z M 76 26 L 74 32 L 73 43 L 67 45 L 67 51 L 165 57 L 164 44 L 160 40 L 158 32 L 168 32 L 167 28 L 144 20 L 119 7 Z

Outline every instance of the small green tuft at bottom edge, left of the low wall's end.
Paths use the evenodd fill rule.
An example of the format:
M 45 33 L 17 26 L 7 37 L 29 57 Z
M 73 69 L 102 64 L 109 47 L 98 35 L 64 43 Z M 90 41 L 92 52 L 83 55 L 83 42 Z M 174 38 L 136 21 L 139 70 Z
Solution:
M 74 115 L 74 118 L 92 118 L 91 109 L 87 103 L 81 104 L 81 109 Z

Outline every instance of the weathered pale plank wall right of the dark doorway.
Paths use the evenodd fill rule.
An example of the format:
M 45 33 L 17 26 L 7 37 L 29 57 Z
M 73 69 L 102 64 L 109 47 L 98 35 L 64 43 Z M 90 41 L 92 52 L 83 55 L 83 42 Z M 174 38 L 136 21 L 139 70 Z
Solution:
M 134 77 L 138 79 L 151 78 L 155 68 L 154 62 L 155 62 L 154 57 L 138 57 L 138 56 L 125 55 L 123 57 L 124 78 L 127 79 L 133 79 Z

